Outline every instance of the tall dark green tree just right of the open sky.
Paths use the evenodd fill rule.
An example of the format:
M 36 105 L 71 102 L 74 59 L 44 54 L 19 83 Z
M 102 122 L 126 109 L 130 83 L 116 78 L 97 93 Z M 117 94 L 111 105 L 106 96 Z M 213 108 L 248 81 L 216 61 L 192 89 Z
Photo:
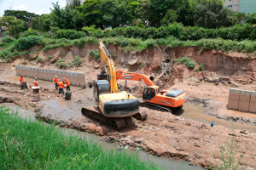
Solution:
M 79 13 L 69 6 L 61 8 L 58 2 L 52 4 L 53 8 L 50 8 L 53 13 L 51 25 L 66 30 L 76 29 Z

